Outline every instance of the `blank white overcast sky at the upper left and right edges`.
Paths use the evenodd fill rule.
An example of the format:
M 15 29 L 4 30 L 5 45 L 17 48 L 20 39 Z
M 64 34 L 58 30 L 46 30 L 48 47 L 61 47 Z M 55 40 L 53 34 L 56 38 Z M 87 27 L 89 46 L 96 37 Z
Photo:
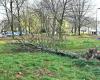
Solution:
M 31 1 L 32 0 L 29 0 L 29 2 L 31 2 Z M 95 17 L 96 16 L 96 9 L 100 8 L 100 0 L 93 0 L 93 2 L 91 2 L 91 3 L 93 3 L 93 5 L 95 5 L 94 8 L 93 8 L 93 13 L 94 14 L 92 14 L 92 16 Z M 97 12 L 98 12 L 98 14 L 97 14 L 98 20 L 100 20 L 100 9 L 98 9 Z M 2 20 L 4 18 L 3 13 L 4 13 L 3 8 L 0 6 L 0 20 Z

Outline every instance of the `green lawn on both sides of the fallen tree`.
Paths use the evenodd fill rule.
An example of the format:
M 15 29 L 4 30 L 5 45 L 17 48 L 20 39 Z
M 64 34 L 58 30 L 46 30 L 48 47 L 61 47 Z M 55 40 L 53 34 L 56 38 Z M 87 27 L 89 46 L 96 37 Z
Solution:
M 57 46 L 81 50 L 100 46 L 95 38 L 68 37 Z M 0 80 L 100 80 L 100 62 L 71 59 L 45 52 L 14 51 L 16 45 L 0 41 Z

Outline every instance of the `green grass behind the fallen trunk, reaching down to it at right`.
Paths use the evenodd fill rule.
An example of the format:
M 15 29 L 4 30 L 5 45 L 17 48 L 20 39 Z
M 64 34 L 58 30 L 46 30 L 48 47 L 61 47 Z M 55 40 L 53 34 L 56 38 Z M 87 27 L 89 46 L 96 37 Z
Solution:
M 95 36 L 68 36 L 67 40 L 56 42 L 54 48 L 83 53 L 89 48 L 95 47 L 100 49 L 100 40 Z

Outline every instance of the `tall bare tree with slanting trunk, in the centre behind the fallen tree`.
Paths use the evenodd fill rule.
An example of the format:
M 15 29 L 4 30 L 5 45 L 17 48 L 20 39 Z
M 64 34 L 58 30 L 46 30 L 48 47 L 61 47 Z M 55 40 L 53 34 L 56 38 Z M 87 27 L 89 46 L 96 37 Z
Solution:
M 53 18 L 52 30 L 55 30 L 55 24 L 58 25 L 57 32 L 59 34 L 59 39 L 62 39 L 62 25 L 69 2 L 71 2 L 71 0 L 43 0 L 41 2 L 42 8 L 44 8 L 44 10 L 49 13 L 49 16 Z

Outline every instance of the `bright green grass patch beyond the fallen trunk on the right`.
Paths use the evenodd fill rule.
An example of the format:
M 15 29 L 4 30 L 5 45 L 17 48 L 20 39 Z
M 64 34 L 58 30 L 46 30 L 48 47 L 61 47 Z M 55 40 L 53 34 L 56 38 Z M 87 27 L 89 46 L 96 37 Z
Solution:
M 75 49 L 88 49 L 92 47 L 100 47 L 100 40 L 96 38 L 81 38 L 81 37 L 68 37 L 66 41 L 57 44 L 58 48 L 65 50 L 75 50 Z

